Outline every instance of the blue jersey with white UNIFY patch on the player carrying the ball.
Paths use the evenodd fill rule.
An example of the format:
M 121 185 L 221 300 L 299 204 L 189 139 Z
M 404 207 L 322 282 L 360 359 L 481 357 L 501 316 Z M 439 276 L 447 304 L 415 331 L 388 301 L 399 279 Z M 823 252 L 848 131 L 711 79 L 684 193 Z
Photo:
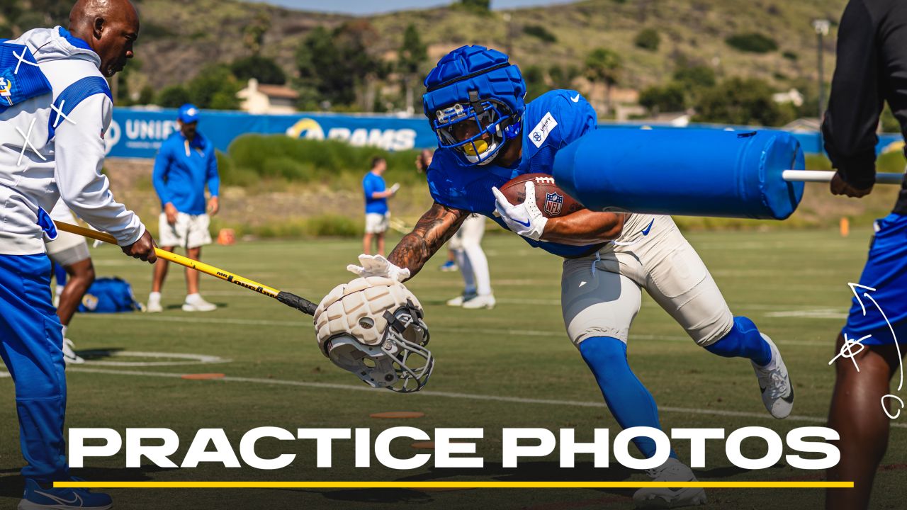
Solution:
M 597 125 L 595 110 L 580 93 L 571 90 L 543 93 L 526 105 L 522 116 L 522 155 L 513 168 L 493 162 L 481 166 L 467 165 L 453 149 L 438 149 L 428 168 L 428 189 L 434 201 L 447 207 L 478 212 L 506 229 L 504 221 L 494 216 L 492 187 L 500 188 L 505 182 L 524 173 L 551 175 L 554 154 L 594 130 Z M 523 239 L 533 247 L 561 257 L 581 257 L 601 246 L 571 246 Z

